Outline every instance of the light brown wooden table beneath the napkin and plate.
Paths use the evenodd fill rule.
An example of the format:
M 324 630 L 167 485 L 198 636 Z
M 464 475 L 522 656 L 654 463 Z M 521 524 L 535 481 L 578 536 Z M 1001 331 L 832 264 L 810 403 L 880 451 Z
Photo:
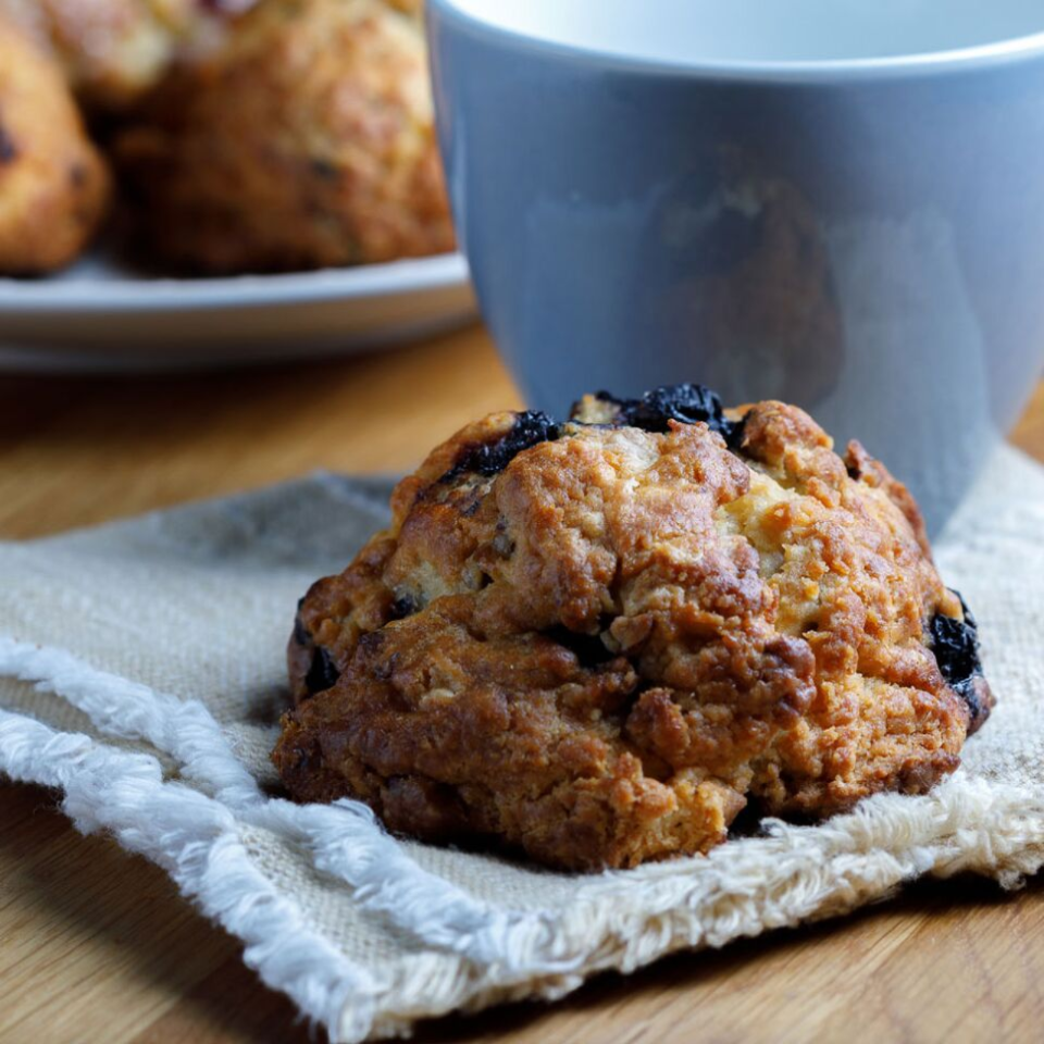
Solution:
M 314 468 L 386 471 L 518 402 L 478 328 L 396 353 L 204 376 L 0 378 L 0 537 Z M 1044 459 L 1044 385 L 1016 442 Z M 288 1000 L 156 867 L 0 784 L 0 1041 L 304 1042 Z M 602 977 L 419 1039 L 525 1044 L 1039 1041 L 1044 885 L 921 884 L 843 922 Z

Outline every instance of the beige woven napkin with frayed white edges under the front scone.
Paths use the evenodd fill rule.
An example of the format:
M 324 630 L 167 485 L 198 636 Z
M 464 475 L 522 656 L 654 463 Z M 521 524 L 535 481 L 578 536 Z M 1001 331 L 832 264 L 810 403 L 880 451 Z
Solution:
M 0 546 L 0 771 L 60 787 L 82 830 L 164 867 L 335 1041 L 558 997 L 922 874 L 1014 886 L 1044 865 L 1044 470 L 1015 451 L 939 549 L 999 696 L 960 771 L 927 797 L 591 877 L 399 842 L 352 803 L 277 796 L 266 757 L 295 601 L 384 520 L 387 493 L 320 475 Z

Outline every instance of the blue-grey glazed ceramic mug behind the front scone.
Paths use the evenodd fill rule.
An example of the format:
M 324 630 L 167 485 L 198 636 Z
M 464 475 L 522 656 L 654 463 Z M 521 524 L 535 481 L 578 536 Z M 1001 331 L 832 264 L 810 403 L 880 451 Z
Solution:
M 794 401 L 939 527 L 1044 363 L 1040 0 L 428 0 L 428 27 L 534 407 Z

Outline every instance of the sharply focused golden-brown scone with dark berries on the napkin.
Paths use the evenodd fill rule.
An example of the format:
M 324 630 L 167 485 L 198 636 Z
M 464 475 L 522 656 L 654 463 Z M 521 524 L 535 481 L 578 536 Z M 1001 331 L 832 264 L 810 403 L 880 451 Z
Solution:
M 705 853 L 748 803 L 923 793 L 992 706 L 917 506 L 782 402 L 683 385 L 501 413 L 300 605 L 301 800 L 568 870 Z

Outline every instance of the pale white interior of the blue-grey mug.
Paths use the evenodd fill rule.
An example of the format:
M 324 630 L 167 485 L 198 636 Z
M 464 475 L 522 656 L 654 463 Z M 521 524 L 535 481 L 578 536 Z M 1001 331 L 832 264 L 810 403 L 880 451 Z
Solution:
M 545 42 L 674 65 L 896 60 L 1044 46 L 1044 0 L 440 0 Z

